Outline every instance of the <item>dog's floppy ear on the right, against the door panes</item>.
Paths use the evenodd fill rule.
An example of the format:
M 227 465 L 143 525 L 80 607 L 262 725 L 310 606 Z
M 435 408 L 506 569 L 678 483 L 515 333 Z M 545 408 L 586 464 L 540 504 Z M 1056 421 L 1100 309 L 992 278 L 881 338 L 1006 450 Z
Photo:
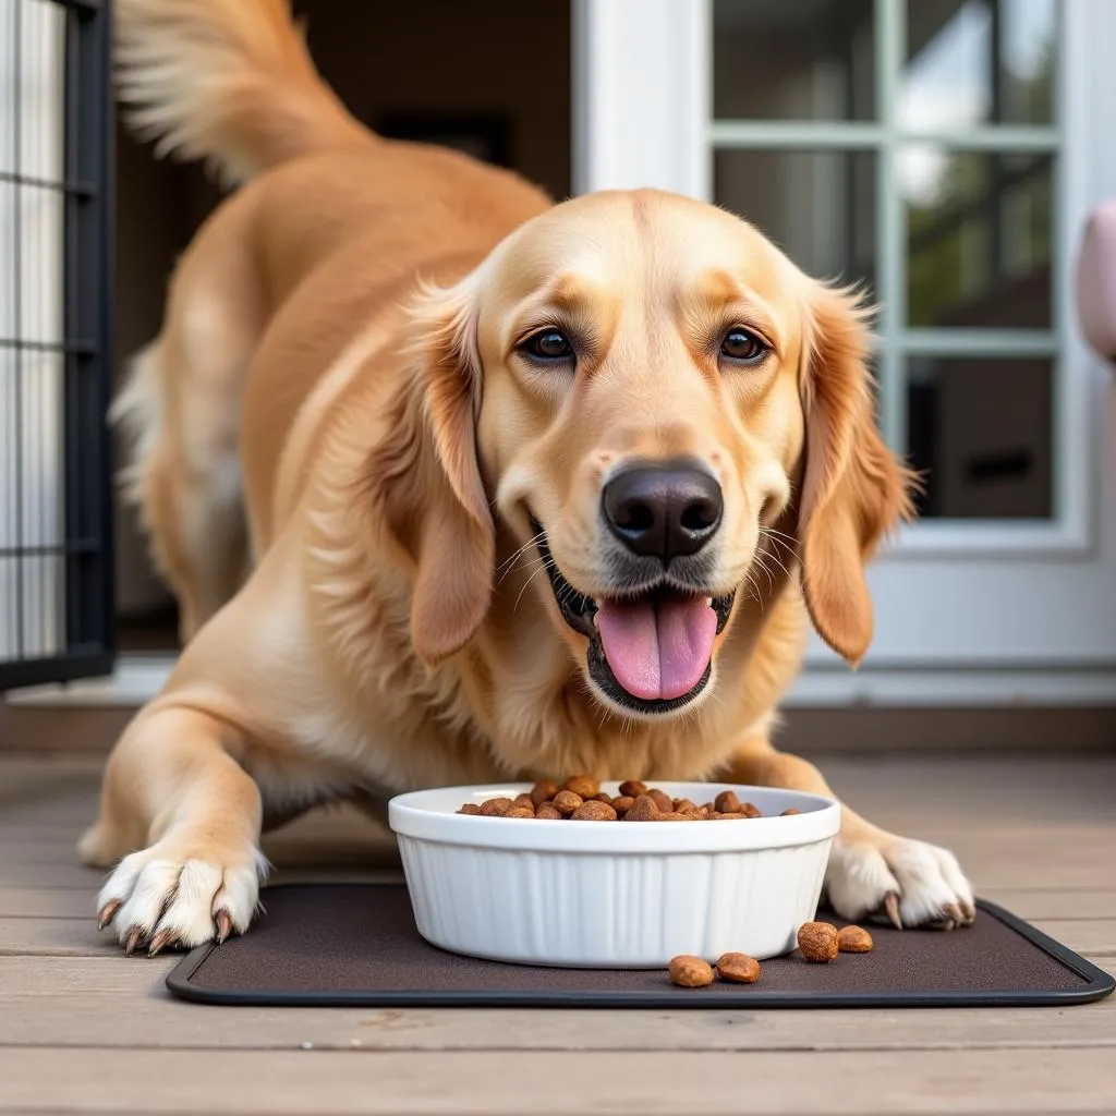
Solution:
M 914 483 L 876 429 L 867 317 L 856 294 L 815 283 L 804 338 L 804 591 L 818 634 L 854 665 L 872 643 L 864 567 L 881 539 L 910 516 Z

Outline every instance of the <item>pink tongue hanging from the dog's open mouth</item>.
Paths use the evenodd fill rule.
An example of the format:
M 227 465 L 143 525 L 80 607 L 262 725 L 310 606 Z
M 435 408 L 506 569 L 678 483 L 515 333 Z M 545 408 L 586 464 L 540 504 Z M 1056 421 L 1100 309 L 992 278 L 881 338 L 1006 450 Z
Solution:
M 716 613 L 699 597 L 604 600 L 597 629 L 616 681 L 644 701 L 681 698 L 709 666 Z

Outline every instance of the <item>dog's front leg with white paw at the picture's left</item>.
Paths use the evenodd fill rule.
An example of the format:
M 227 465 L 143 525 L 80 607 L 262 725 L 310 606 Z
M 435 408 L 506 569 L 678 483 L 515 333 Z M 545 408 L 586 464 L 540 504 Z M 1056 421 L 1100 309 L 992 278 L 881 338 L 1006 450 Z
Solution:
M 266 862 L 260 791 L 230 751 L 240 744 L 235 730 L 208 713 L 155 705 L 109 757 L 100 815 L 78 852 L 103 867 L 123 857 L 97 911 L 128 953 L 248 929 Z

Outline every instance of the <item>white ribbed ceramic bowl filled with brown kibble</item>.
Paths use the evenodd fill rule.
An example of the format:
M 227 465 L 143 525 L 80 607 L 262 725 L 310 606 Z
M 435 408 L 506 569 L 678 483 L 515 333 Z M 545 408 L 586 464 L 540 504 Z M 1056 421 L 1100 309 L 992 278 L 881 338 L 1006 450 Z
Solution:
M 733 783 L 655 782 L 675 798 L 735 790 L 740 821 L 548 821 L 458 814 L 528 783 L 393 798 L 419 933 L 455 953 L 536 965 L 657 969 L 680 953 L 793 949 L 840 821 L 831 799 Z M 604 789 L 616 793 L 615 783 Z M 801 811 L 779 817 L 793 807 Z

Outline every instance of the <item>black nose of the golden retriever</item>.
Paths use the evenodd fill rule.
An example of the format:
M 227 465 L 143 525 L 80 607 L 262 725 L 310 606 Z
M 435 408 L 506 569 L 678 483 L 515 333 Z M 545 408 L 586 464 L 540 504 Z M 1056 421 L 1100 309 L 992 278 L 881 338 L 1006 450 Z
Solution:
M 603 498 L 613 535 L 664 562 L 700 550 L 721 526 L 721 485 L 693 465 L 641 465 L 617 473 Z

